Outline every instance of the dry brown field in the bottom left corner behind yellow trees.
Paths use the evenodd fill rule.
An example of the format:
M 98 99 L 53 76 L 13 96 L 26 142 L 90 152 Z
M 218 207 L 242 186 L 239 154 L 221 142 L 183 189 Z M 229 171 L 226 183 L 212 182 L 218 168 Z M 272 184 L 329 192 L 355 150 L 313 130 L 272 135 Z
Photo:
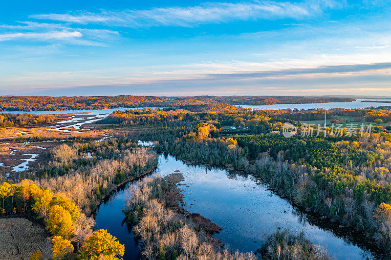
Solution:
M 42 227 L 22 218 L 0 219 L 0 260 L 28 260 L 41 250 L 43 259 L 51 258 L 51 241 Z

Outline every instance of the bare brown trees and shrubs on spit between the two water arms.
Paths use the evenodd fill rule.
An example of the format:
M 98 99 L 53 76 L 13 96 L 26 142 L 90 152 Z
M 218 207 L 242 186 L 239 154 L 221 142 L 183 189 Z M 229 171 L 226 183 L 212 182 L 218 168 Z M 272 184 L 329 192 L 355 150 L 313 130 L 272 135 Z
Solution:
M 169 175 L 170 184 L 161 176 L 154 175 L 130 185 L 130 196 L 126 200 L 127 220 L 134 223 L 134 233 L 141 243 L 144 258 L 176 259 L 226 259 L 234 256 L 238 260 L 255 260 L 253 253 L 231 253 L 220 251 L 221 244 L 211 231 L 195 224 L 192 218 L 173 211 L 167 206 L 167 191 L 174 192 L 180 174 Z M 169 188 L 171 186 L 171 188 Z M 179 197 L 176 197 L 179 198 Z M 195 215 L 196 217 L 197 215 Z

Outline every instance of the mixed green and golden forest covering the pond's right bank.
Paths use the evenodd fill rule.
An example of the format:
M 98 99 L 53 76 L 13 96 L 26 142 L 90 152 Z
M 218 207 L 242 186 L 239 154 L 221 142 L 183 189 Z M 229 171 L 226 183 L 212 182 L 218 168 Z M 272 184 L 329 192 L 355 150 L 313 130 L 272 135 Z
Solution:
M 163 129 L 136 137 L 158 140 L 157 149 L 186 161 L 224 165 L 260 176 L 293 203 L 353 227 L 374 244 L 391 250 L 388 129 L 377 127 L 370 136 L 345 133 L 334 137 L 326 131 L 326 137 L 301 137 L 299 128 L 296 137 L 284 138 L 278 118 L 289 118 L 286 114 L 247 111 L 198 116 L 198 121 L 166 123 Z M 208 123 L 202 123 L 201 116 Z M 229 120 L 231 116 L 238 120 Z M 223 137 L 221 128 L 226 124 L 249 125 L 250 135 Z

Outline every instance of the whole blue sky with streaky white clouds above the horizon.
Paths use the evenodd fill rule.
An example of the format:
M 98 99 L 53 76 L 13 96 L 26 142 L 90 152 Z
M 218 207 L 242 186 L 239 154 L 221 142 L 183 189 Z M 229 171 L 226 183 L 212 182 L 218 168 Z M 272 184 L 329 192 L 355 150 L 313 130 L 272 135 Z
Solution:
M 0 95 L 391 96 L 391 0 L 15 0 Z

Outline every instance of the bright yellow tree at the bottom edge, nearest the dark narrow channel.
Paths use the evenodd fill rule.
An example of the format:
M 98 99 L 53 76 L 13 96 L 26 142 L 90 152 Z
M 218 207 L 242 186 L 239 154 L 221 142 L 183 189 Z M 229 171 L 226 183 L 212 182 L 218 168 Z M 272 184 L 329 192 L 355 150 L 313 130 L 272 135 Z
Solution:
M 107 230 L 99 229 L 85 240 L 80 252 L 81 260 L 115 260 L 115 255 L 124 255 L 125 246 L 120 244 L 116 237 L 111 236 Z

